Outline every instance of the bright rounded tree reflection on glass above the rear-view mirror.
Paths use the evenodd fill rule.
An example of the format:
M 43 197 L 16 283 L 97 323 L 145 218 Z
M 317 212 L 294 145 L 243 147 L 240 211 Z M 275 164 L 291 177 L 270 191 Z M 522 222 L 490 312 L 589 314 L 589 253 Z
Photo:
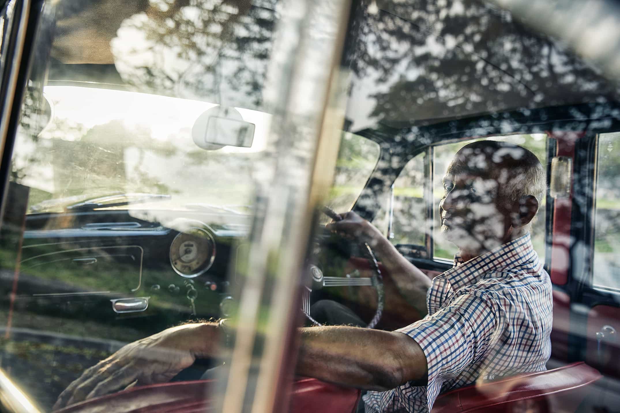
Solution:
M 115 66 L 140 89 L 259 107 L 274 9 L 275 0 L 153 2 L 112 39 Z

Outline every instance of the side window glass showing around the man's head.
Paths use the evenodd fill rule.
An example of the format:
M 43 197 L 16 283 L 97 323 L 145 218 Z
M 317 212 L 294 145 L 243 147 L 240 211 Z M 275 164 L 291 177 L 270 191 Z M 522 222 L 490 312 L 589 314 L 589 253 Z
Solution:
M 531 150 L 538 160 L 544 166 L 546 163 L 546 134 L 524 134 L 524 135 L 511 135 L 511 136 L 495 136 L 485 139 L 491 139 L 494 141 L 511 142 L 525 147 Z M 443 184 L 441 182 L 446 168 L 454 157 L 454 154 L 458 152 L 463 146 L 480 141 L 482 139 L 473 139 L 471 141 L 460 141 L 453 144 L 445 144 L 435 147 L 435 156 L 433 158 L 433 214 L 435 225 L 433 225 L 433 246 L 435 258 L 453 259 L 454 254 L 458 251 L 458 248 L 448 240 L 442 237 L 440 232 L 440 223 L 438 217 L 438 207 L 441 197 L 443 196 Z M 546 170 L 546 168 L 544 168 Z M 544 240 L 544 211 L 545 211 L 545 199 L 541 199 L 539 202 L 538 213 L 534 217 L 531 236 L 534 250 L 538 253 L 539 258 L 544 262 L 545 253 L 545 240 Z

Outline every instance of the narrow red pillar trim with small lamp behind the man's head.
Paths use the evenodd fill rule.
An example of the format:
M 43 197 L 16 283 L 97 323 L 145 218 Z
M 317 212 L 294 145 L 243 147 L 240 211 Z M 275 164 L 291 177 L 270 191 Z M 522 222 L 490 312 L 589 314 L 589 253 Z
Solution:
M 571 171 L 570 196 L 558 198 L 553 209 L 553 233 L 551 236 L 551 282 L 564 285 L 569 280 L 570 262 L 570 215 L 573 200 L 573 172 L 575 168 L 575 142 L 585 135 L 584 132 L 549 132 L 549 137 L 557 141 L 557 156 L 570 157 L 573 171 Z

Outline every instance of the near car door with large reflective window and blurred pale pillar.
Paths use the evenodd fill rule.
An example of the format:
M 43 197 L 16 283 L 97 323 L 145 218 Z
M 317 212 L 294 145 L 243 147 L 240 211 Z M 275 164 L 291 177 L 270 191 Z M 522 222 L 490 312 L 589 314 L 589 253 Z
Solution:
M 209 391 L 218 411 L 286 409 L 306 245 L 343 123 L 330 87 L 347 2 L 2 7 L 2 408 L 50 411 L 150 329 L 232 314 L 238 333 L 210 360 L 225 361 L 218 388 L 172 385 L 162 401 L 154 386 L 136 402 Z M 304 381 L 298 402 L 316 406 L 321 389 Z M 123 397 L 101 408 L 122 410 Z

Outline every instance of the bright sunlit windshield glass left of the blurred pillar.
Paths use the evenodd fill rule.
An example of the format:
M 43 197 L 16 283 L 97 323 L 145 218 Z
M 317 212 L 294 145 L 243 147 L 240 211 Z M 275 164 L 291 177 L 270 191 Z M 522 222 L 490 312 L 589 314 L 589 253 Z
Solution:
M 15 180 L 30 187 L 30 212 L 136 193 L 169 195 L 160 208 L 250 203 L 268 113 L 235 109 L 254 125 L 251 146 L 206 150 L 192 127 L 215 103 L 97 87 L 48 85 L 43 93 L 50 123 L 17 142 L 13 166 Z

